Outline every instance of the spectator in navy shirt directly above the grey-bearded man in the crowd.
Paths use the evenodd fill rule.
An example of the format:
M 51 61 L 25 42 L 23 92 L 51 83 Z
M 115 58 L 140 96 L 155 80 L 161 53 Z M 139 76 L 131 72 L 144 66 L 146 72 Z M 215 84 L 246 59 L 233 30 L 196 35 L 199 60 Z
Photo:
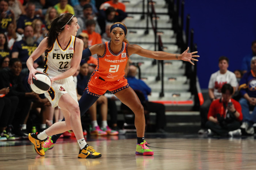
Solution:
M 32 22 L 34 21 L 34 19 L 40 19 L 35 15 L 36 5 L 33 2 L 28 2 L 26 4 L 25 10 L 27 14 L 21 15 L 17 21 L 17 32 L 19 34 L 23 34 L 25 26 L 32 25 Z

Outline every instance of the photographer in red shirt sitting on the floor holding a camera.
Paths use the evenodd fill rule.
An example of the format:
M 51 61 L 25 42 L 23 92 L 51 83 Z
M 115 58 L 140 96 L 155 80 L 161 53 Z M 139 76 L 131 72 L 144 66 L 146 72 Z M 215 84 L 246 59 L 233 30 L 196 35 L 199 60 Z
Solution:
M 243 119 L 242 108 L 239 102 L 231 99 L 233 87 L 225 84 L 221 88 L 222 96 L 214 100 L 208 112 L 208 135 L 211 132 L 220 136 L 241 136 L 240 122 Z

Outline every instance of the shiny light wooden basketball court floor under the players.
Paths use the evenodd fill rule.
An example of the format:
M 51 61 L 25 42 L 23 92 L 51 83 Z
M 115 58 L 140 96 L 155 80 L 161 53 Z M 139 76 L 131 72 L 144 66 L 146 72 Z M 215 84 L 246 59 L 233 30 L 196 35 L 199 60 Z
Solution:
M 133 135 L 134 136 L 134 135 Z M 149 136 L 149 137 L 147 137 Z M 136 139 L 126 136 L 87 138 L 102 154 L 78 159 L 76 139 L 60 139 L 45 156 L 36 154 L 28 140 L 0 142 L 1 170 L 124 170 L 124 169 L 255 169 L 256 142 L 250 138 L 208 138 L 146 135 L 153 156 L 136 156 Z M 19 145 L 19 146 L 13 146 Z

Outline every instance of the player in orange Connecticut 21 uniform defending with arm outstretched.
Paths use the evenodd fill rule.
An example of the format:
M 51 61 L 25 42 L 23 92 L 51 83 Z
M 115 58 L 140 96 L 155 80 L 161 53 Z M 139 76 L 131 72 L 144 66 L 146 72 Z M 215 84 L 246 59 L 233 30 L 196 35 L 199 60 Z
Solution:
M 188 49 L 182 54 L 170 54 L 163 51 L 150 51 L 143 49 L 138 45 L 130 45 L 126 40 L 125 35 L 127 28 L 123 23 L 116 22 L 110 28 L 111 41 L 95 44 L 90 48 L 83 50 L 83 57 L 89 57 L 93 54 L 98 55 L 98 65 L 88 81 L 88 86 L 85 89 L 79 107 L 81 115 L 107 90 L 116 95 L 125 105 L 131 108 L 135 114 L 135 127 L 137 129 L 137 145 L 136 155 L 153 155 L 154 152 L 149 149 L 144 140 L 145 117 L 144 109 L 136 93 L 129 87 L 127 80 L 124 78 L 124 70 L 132 54 L 138 54 L 156 60 L 183 60 L 191 62 L 198 61 L 192 58 L 192 54 L 188 53 Z M 193 55 L 193 57 L 199 57 Z M 58 137 L 53 136 L 52 142 L 46 141 L 44 150 L 47 151 L 53 147 Z

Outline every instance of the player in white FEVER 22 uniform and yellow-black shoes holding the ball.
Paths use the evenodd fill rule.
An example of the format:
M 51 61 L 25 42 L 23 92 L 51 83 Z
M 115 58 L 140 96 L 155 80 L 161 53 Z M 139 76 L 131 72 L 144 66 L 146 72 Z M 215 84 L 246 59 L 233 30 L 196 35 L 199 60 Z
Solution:
M 99 158 L 101 154 L 95 152 L 86 144 L 80 119 L 80 110 L 76 97 L 76 88 L 72 75 L 76 72 L 81 61 L 83 41 L 76 39 L 79 28 L 77 18 L 73 14 L 63 14 L 54 19 L 47 37 L 39 44 L 38 48 L 27 60 L 29 69 L 28 83 L 36 78 L 37 71 L 33 62 L 45 52 L 44 73 L 51 78 L 51 88 L 45 96 L 52 103 L 52 107 L 61 108 L 65 117 L 64 122 L 56 122 L 40 134 L 31 133 L 29 140 L 34 144 L 36 152 L 44 156 L 44 139 L 49 136 L 63 133 L 72 129 L 80 146 L 78 158 Z

